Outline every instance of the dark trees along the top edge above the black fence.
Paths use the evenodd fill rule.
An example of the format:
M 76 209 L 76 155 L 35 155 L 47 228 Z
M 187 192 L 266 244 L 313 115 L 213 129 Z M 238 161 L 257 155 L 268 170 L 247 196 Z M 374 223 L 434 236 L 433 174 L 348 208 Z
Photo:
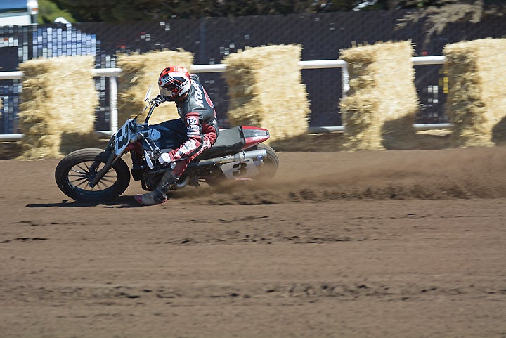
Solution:
M 49 2 L 41 0 L 41 2 Z M 242 15 L 324 13 L 351 11 L 365 0 L 53 0 L 58 8 L 72 13 L 78 22 L 131 22 L 169 18 L 205 18 Z M 377 0 L 362 10 L 417 9 L 408 13 L 398 27 L 425 20 L 427 39 L 450 22 L 478 22 L 484 15 L 505 15 L 503 0 Z M 65 16 L 65 15 L 63 15 Z M 67 19 L 68 20 L 68 19 Z

